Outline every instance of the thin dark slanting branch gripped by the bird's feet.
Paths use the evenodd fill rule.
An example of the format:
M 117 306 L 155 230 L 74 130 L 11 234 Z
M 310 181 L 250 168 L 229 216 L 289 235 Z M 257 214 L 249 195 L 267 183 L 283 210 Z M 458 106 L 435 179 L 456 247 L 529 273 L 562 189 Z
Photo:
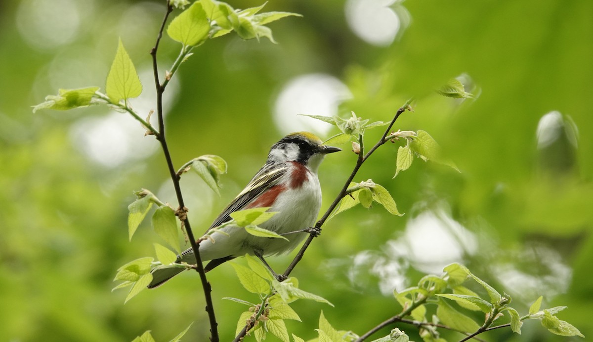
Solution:
M 410 103 L 411 102 L 412 102 L 412 99 L 409 99 L 406 102 L 406 104 L 404 104 L 400 109 L 397 110 L 396 115 L 393 117 L 393 120 L 391 120 L 391 123 L 389 124 L 389 126 L 385 130 L 385 133 L 383 133 L 381 139 L 379 141 L 377 141 L 377 144 L 375 144 L 375 146 L 373 146 L 372 149 L 368 151 L 368 153 L 364 154 L 364 156 L 363 156 L 364 146 L 362 144 L 362 135 L 359 136 L 359 144 L 361 144 L 361 151 L 358 154 L 358 159 L 356 160 L 356 164 L 354 166 L 354 169 L 352 170 L 352 173 L 350 173 L 350 176 L 346 180 L 346 182 L 345 182 L 342 190 L 340 190 L 340 192 L 336 196 L 336 199 L 334 199 L 334 201 L 331 203 L 330 207 L 327 208 L 327 211 L 326 211 L 325 214 L 323 214 L 323 217 L 321 217 L 321 219 L 319 221 L 317 221 L 317 223 L 315 224 L 315 228 L 318 228 L 318 229 L 321 230 L 321 226 L 324 224 L 324 222 L 326 222 L 326 220 L 330 216 L 331 212 L 337 207 L 337 205 L 339 204 L 340 200 L 342 200 L 342 198 L 344 196 L 346 196 L 346 192 L 348 190 L 348 185 L 350 185 L 350 182 L 352 182 L 352 179 L 354 179 L 354 177 L 356 176 L 356 173 L 361 168 L 362 164 L 366 161 L 366 159 L 368 159 L 371 156 L 371 154 L 375 150 L 378 149 L 378 147 L 380 147 L 382 144 L 384 144 L 384 143 L 386 143 L 388 141 L 388 140 L 385 140 L 385 137 L 387 137 L 387 134 L 389 134 L 389 131 L 391 130 L 391 127 L 393 127 L 393 124 L 395 124 L 397 118 L 401 115 L 401 113 L 403 113 L 404 111 L 406 111 L 406 109 L 409 109 L 410 108 Z M 285 276 L 288 277 L 291 274 L 292 269 L 294 269 L 295 266 L 297 266 L 298 262 L 301 261 L 303 255 L 305 254 L 305 250 L 307 250 L 307 248 L 311 244 L 311 241 L 313 241 L 313 238 L 314 238 L 313 235 L 310 235 L 307 238 L 307 240 L 305 241 L 305 244 L 302 245 L 301 249 L 298 251 L 297 255 L 295 256 L 295 259 L 292 260 L 291 264 L 284 271 L 283 275 L 285 275 Z

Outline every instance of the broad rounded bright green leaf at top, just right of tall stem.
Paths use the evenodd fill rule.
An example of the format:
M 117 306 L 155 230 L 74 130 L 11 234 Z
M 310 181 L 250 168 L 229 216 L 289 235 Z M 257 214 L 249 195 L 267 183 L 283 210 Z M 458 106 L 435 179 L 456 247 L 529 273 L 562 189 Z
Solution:
M 209 32 L 210 22 L 199 1 L 177 15 L 167 28 L 169 37 L 184 46 L 199 45 L 208 38 Z

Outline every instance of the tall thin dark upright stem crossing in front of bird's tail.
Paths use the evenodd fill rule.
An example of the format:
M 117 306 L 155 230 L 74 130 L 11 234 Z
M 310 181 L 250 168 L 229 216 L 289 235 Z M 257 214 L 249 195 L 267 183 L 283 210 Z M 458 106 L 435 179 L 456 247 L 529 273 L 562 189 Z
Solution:
M 154 82 L 157 88 L 157 116 L 158 116 L 158 131 L 159 134 L 157 135 L 158 141 L 161 143 L 162 151 L 165 155 L 165 159 L 167 160 L 167 167 L 169 173 L 171 175 L 171 180 L 173 180 L 173 187 L 175 188 L 175 193 L 177 195 L 177 202 L 179 204 L 179 209 L 177 210 L 177 216 L 181 221 L 183 227 L 185 227 L 187 237 L 189 238 L 190 244 L 192 245 L 193 254 L 196 257 L 196 272 L 200 275 L 200 280 L 202 281 L 202 288 L 204 291 L 204 297 L 206 299 L 206 312 L 208 312 L 208 318 L 210 321 L 210 333 L 211 342 L 218 342 L 218 323 L 216 323 L 216 317 L 214 313 L 214 307 L 212 305 L 212 286 L 206 279 L 206 272 L 204 271 L 204 267 L 202 265 L 202 258 L 200 258 L 200 251 L 198 243 L 193 235 L 192 227 L 190 226 L 190 222 L 187 219 L 187 208 L 184 205 L 183 195 L 181 193 L 181 186 L 179 185 L 179 177 L 175 171 L 173 166 L 173 160 L 171 160 L 171 153 L 169 152 L 167 146 L 167 140 L 165 138 L 165 124 L 163 119 L 163 112 L 162 112 L 162 93 L 164 93 L 165 88 L 167 86 L 168 80 L 170 79 L 171 74 L 165 76 L 165 81 L 161 84 L 159 77 L 158 77 L 158 66 L 157 66 L 157 50 L 158 44 L 162 38 L 162 31 L 164 31 L 165 24 L 167 23 L 167 19 L 169 15 L 173 12 L 173 6 L 171 5 L 170 0 L 167 0 L 167 12 L 165 13 L 165 17 L 162 20 L 161 28 L 158 31 L 157 41 L 154 47 L 150 50 L 150 54 L 152 55 L 152 69 L 154 72 Z M 183 51 L 186 49 L 182 49 Z M 176 61 L 177 62 L 177 61 Z

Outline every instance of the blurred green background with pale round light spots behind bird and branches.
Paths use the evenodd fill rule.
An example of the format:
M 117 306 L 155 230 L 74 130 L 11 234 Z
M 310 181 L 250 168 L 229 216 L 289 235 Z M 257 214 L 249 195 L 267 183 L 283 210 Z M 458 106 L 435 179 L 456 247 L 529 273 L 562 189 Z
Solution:
M 117 267 L 154 256 L 158 241 L 148 221 L 128 241 L 132 191 L 147 188 L 174 203 L 154 138 L 105 107 L 31 112 L 58 88 L 104 89 L 121 37 L 144 83 L 132 104 L 148 114 L 155 108 L 148 51 L 163 3 L 0 2 L 2 341 L 130 341 L 145 330 L 165 341 L 190 322 L 186 340 L 207 339 L 193 273 L 126 305 L 126 290 L 110 291 Z M 520 312 L 543 295 L 544 307 L 567 305 L 559 317 L 593 335 L 593 2 L 271 0 L 266 10 L 303 17 L 270 24 L 278 45 L 233 35 L 206 42 L 167 89 L 176 166 L 201 154 L 218 154 L 229 165 L 220 197 L 196 175 L 181 180 L 198 233 L 282 135 L 336 133 L 298 113 L 355 111 L 387 121 L 416 96 L 415 112 L 395 128 L 428 131 L 461 170 L 416 159 L 392 179 L 398 144 L 378 150 L 355 180 L 384 185 L 406 214 L 355 208 L 327 222 L 293 275 L 336 307 L 296 302 L 303 323 L 289 321 L 291 333 L 315 337 L 323 309 L 334 327 L 362 334 L 398 312 L 393 289 L 463 262 L 509 293 Z M 165 36 L 160 51 L 164 72 L 178 45 Z M 455 77 L 477 98 L 436 95 Z M 369 132 L 367 144 L 379 135 Z M 324 208 L 355 162 L 342 147 L 320 169 Z M 293 255 L 272 259 L 272 266 L 284 269 Z M 256 299 L 228 264 L 209 279 L 222 340 L 230 340 L 244 307 L 221 298 Z M 482 337 L 576 340 L 551 335 L 536 321 L 522 331 L 520 339 L 510 330 Z

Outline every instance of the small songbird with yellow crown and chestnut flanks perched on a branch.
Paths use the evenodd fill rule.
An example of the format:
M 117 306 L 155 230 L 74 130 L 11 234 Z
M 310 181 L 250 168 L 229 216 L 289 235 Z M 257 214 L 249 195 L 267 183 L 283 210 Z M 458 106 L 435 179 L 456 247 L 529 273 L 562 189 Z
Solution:
M 278 213 L 259 227 L 283 235 L 288 241 L 282 238 L 256 237 L 243 228 L 225 225 L 220 228 L 224 233 L 216 231 L 211 239 L 200 243 L 202 261 L 211 260 L 205 267 L 206 272 L 245 254 L 259 257 L 272 270 L 263 259 L 264 256 L 292 251 L 307 234 L 318 233 L 311 228 L 321 207 L 317 169 L 326 154 L 337 151 L 340 149 L 324 146 L 320 138 L 308 132 L 288 134 L 274 144 L 266 164 L 214 220 L 208 231 L 231 221 L 232 212 L 271 207 L 268 211 Z M 180 262 L 196 263 L 191 248 L 177 256 L 176 263 Z M 183 270 L 183 267 L 156 267 L 152 270 L 152 282 L 148 288 L 161 285 Z M 273 274 L 277 279 L 282 279 L 282 276 Z

